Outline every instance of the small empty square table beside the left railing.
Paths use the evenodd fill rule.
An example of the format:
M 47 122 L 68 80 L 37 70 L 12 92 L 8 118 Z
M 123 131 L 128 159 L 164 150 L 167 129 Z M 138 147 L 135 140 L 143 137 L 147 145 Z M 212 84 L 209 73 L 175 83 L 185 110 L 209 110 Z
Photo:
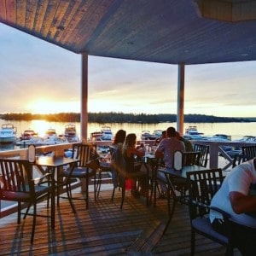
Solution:
M 57 206 L 59 206 L 59 195 L 60 195 L 60 185 L 64 185 L 65 183 L 69 182 L 69 177 L 65 179 L 65 183 L 61 180 L 61 168 L 63 166 L 71 166 L 70 173 L 72 173 L 73 168 L 79 162 L 79 159 L 75 158 L 67 158 L 64 156 L 38 156 L 33 163 L 41 173 L 52 173 L 52 195 L 51 199 L 53 200 L 53 207 L 51 209 L 52 216 L 55 216 L 55 189 L 57 190 Z M 72 202 L 71 202 L 72 204 Z M 73 207 L 73 206 L 72 206 Z M 52 223 L 52 228 L 55 228 L 55 218 Z

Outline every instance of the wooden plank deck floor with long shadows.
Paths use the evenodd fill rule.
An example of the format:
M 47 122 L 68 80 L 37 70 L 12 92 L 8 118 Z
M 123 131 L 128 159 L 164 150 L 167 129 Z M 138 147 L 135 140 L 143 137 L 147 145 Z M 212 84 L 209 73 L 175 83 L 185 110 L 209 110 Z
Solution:
M 79 194 L 79 190 L 77 189 Z M 74 201 L 73 214 L 68 201 L 61 199 L 56 208 L 55 230 L 47 218 L 38 217 L 35 240 L 30 245 L 32 217 L 16 224 L 16 213 L 0 219 L 1 255 L 189 255 L 190 225 L 186 206 L 177 205 L 166 235 L 161 237 L 167 220 L 166 200 L 157 207 L 146 207 L 145 200 L 129 193 L 123 210 L 120 192 L 110 201 L 111 190 L 102 190 L 97 201 L 90 193 L 90 207 Z M 45 202 L 39 204 L 45 213 Z M 160 239 L 161 238 L 161 239 Z M 224 255 L 224 247 L 196 236 L 195 255 Z M 236 252 L 236 256 L 240 253 Z

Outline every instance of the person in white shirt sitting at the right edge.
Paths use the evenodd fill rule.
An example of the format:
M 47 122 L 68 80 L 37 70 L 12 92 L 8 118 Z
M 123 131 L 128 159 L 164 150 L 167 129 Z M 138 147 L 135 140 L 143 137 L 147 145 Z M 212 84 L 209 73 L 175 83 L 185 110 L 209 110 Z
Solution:
M 212 198 L 212 207 L 218 207 L 228 212 L 234 222 L 245 225 L 232 225 L 234 244 L 242 255 L 256 253 L 256 194 L 253 185 L 256 184 L 256 158 L 233 168 L 224 178 L 222 186 Z M 253 193 L 254 192 L 254 193 Z M 219 233 L 226 235 L 227 227 L 221 213 L 211 210 L 212 227 Z

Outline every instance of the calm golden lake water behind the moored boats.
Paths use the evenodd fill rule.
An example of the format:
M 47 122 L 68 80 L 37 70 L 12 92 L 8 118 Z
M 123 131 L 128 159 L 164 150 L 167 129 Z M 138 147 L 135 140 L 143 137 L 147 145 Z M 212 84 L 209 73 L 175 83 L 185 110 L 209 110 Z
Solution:
M 58 134 L 63 134 L 64 127 L 67 123 L 60 122 L 46 122 L 42 120 L 32 120 L 32 121 L 12 121 L 6 122 L 3 119 L 0 119 L 0 125 L 11 123 L 15 125 L 17 128 L 17 137 L 20 137 L 21 133 L 26 129 L 33 129 L 34 131 L 38 131 L 39 136 L 44 136 L 44 132 L 49 128 L 55 128 Z M 137 134 L 137 138 L 140 139 L 142 131 L 150 131 L 154 130 L 166 130 L 167 127 L 173 126 L 176 127 L 176 123 L 160 123 L 160 124 L 105 124 L 109 125 L 112 128 L 113 134 L 119 129 L 124 129 L 127 132 L 133 132 Z M 196 125 L 199 132 L 203 132 L 205 136 L 213 136 L 217 133 L 223 133 L 226 135 L 230 135 L 233 140 L 239 139 L 245 135 L 256 136 L 256 122 L 252 123 L 185 123 L 184 129 L 189 125 Z M 76 123 L 78 134 L 80 134 L 80 123 Z M 100 131 L 102 125 L 97 123 L 90 123 L 88 126 L 88 134 L 90 136 L 90 132 Z M 0 145 L 0 150 L 7 150 L 17 148 L 12 144 L 9 145 Z

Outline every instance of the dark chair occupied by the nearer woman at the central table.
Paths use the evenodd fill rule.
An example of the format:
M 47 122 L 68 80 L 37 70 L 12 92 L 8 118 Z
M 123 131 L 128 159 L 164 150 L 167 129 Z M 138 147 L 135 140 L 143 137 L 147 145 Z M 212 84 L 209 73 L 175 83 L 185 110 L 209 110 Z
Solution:
M 139 186 L 141 185 L 141 182 L 147 183 L 146 188 L 146 198 L 147 198 L 147 205 L 149 204 L 149 197 L 148 197 L 148 189 L 149 189 L 149 177 L 146 172 L 140 171 L 141 166 L 143 165 L 142 162 L 135 162 L 133 166 L 133 170 L 127 170 L 126 168 L 126 162 L 123 154 L 120 152 L 119 148 L 113 148 L 113 168 L 118 174 L 118 188 L 121 189 L 122 192 L 122 199 L 120 204 L 120 209 L 123 208 L 123 204 L 125 201 L 125 181 L 127 179 L 134 179 L 136 181 L 136 189 L 135 189 L 135 195 L 139 195 Z M 112 201 L 113 196 L 116 187 L 113 187 L 113 193 L 112 193 Z

